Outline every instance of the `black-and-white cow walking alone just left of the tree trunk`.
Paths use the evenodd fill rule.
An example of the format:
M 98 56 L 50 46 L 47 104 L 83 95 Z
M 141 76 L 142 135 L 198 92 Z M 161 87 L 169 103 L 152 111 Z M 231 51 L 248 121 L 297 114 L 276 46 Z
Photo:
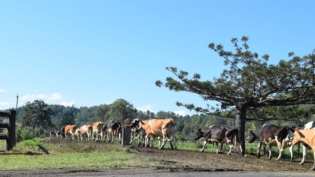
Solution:
M 238 130 L 235 127 L 227 126 L 227 125 L 212 125 L 206 130 L 198 129 L 197 137 L 195 140 L 200 139 L 201 137 L 205 137 L 204 146 L 200 150 L 204 151 L 205 145 L 207 142 L 216 143 L 217 154 L 219 153 L 218 143 L 221 143 L 221 147 L 223 144 L 229 144 L 230 150 L 227 153 L 231 154 L 232 148 L 234 145 L 238 144 L 240 151 L 242 152 L 239 140 L 238 140 Z

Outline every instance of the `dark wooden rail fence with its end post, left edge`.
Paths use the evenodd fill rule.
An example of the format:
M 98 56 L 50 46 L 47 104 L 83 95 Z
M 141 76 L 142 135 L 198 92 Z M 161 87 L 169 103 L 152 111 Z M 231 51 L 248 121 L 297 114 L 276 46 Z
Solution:
M 5 149 L 11 150 L 16 146 L 16 111 L 0 112 L 0 117 L 8 117 L 7 124 L 0 124 L 0 128 L 8 129 L 7 135 L 0 135 L 0 140 L 6 140 Z

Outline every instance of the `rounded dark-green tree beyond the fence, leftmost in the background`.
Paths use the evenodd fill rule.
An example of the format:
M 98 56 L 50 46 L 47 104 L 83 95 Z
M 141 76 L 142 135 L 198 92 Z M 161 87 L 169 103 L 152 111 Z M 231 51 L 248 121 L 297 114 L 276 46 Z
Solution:
M 52 115 L 52 110 L 47 107 L 44 101 L 35 100 L 33 103 L 27 102 L 20 114 L 21 124 L 23 127 L 29 126 L 33 130 L 48 129 L 54 127 L 50 119 Z

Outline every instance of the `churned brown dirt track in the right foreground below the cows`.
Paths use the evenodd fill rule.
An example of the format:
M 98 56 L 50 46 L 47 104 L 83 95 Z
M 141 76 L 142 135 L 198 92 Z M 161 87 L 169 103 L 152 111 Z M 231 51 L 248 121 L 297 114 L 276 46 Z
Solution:
M 235 153 L 226 155 L 225 153 L 160 150 L 158 148 L 144 147 L 134 147 L 133 149 L 141 157 L 165 164 L 176 164 L 176 166 L 186 171 L 307 172 L 313 166 L 313 162 L 298 165 L 299 162 L 276 161 L 276 158 L 268 160 L 264 157 L 257 159 L 251 155 L 240 156 Z

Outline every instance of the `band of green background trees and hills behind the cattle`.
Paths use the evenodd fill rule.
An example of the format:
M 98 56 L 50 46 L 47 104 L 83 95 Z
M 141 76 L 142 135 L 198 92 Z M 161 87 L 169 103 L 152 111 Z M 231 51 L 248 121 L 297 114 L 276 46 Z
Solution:
M 292 111 L 312 110 L 314 105 L 296 105 Z M 272 108 L 269 108 L 272 109 Z M 287 109 L 287 108 L 286 108 Z M 4 110 L 8 111 L 8 110 Z M 281 111 L 281 110 L 278 110 Z M 222 112 L 222 114 L 225 114 Z M 301 126 L 305 123 L 315 120 L 315 115 L 304 115 L 294 121 L 286 120 L 252 120 L 246 122 L 246 134 L 249 130 L 255 130 L 262 127 L 265 123 L 273 123 L 279 126 Z M 101 104 L 97 106 L 63 106 L 59 104 L 47 104 L 42 100 L 35 100 L 32 103 L 28 102 L 17 109 L 16 122 L 22 127 L 30 127 L 35 132 L 60 131 L 63 125 L 85 125 L 95 121 L 103 121 L 105 124 L 110 120 L 122 121 L 126 118 L 173 118 L 174 131 L 177 138 L 195 137 L 198 128 L 206 129 L 211 125 L 230 125 L 235 126 L 233 118 L 221 118 L 216 115 L 194 114 L 181 116 L 171 111 L 158 111 L 157 113 L 149 110 L 143 112 L 134 108 L 133 104 L 124 99 L 118 99 L 111 104 Z

